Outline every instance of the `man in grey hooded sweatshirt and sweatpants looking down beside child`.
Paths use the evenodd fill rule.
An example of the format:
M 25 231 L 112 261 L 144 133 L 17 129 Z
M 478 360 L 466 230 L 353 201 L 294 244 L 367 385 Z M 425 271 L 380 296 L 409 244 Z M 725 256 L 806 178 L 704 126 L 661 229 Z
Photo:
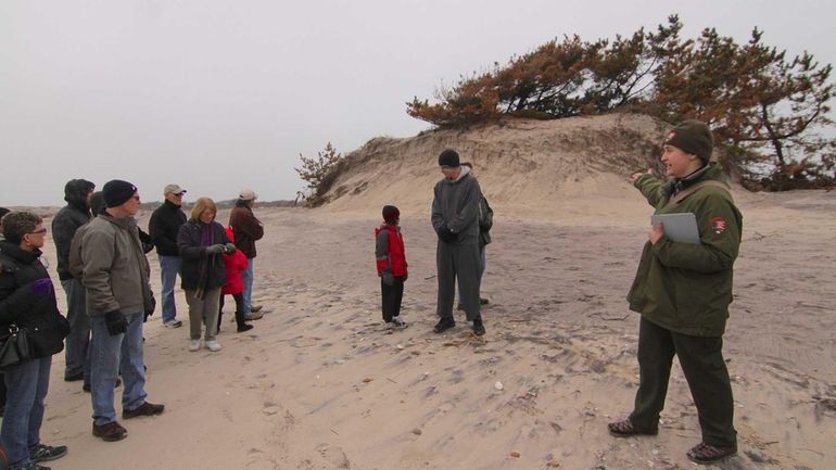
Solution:
M 453 318 L 455 283 L 458 278 L 460 302 L 467 320 L 473 322 L 473 333 L 485 333 L 479 313 L 479 201 L 482 190 L 470 175 L 470 168 L 459 164 L 458 153 L 447 149 L 439 155 L 444 178 L 435 183 L 432 200 L 432 228 L 439 236 L 435 264 L 439 279 L 436 333 L 456 326 Z

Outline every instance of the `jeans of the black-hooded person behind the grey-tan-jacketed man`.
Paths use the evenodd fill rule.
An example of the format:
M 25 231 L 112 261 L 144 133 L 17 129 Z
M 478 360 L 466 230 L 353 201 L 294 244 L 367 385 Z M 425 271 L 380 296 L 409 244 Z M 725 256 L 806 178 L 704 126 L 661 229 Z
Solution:
M 66 293 L 66 319 L 69 322 L 64 377 L 81 372 L 85 383 L 90 383 L 90 356 L 87 354 L 90 345 L 90 317 L 87 316 L 87 291 L 78 279 L 65 279 L 61 281 L 61 287 Z

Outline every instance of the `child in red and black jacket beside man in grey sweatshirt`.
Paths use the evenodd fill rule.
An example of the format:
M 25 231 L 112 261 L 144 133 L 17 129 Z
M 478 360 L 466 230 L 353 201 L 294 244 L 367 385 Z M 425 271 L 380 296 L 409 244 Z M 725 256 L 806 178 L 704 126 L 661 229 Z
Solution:
M 383 224 L 375 228 L 375 256 L 380 276 L 382 293 L 383 321 L 387 329 L 406 328 L 402 320 L 401 301 L 404 296 L 406 272 L 406 251 L 404 237 L 401 234 L 401 212 L 393 205 L 383 206 Z

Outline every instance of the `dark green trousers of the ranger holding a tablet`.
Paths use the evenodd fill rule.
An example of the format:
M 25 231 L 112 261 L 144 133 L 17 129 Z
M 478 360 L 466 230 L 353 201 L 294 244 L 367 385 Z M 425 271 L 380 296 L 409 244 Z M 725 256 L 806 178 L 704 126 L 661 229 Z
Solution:
M 642 431 L 658 429 L 674 354 L 697 405 L 702 442 L 736 448 L 734 398 L 723 360 L 722 336 L 689 336 L 642 318 L 637 354 L 639 384 L 630 421 Z

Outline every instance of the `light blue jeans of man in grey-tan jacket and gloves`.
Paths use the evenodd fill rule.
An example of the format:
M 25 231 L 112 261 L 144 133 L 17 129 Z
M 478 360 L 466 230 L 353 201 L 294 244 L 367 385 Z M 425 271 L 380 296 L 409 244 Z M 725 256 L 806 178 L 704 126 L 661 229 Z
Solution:
M 116 421 L 113 389 L 122 373 L 122 409 L 136 409 L 145 403 L 145 370 L 142 363 L 142 313 L 125 315 L 126 333 L 111 335 L 104 317 L 91 317 L 90 341 L 92 373 L 90 380 L 93 421 L 97 425 Z

